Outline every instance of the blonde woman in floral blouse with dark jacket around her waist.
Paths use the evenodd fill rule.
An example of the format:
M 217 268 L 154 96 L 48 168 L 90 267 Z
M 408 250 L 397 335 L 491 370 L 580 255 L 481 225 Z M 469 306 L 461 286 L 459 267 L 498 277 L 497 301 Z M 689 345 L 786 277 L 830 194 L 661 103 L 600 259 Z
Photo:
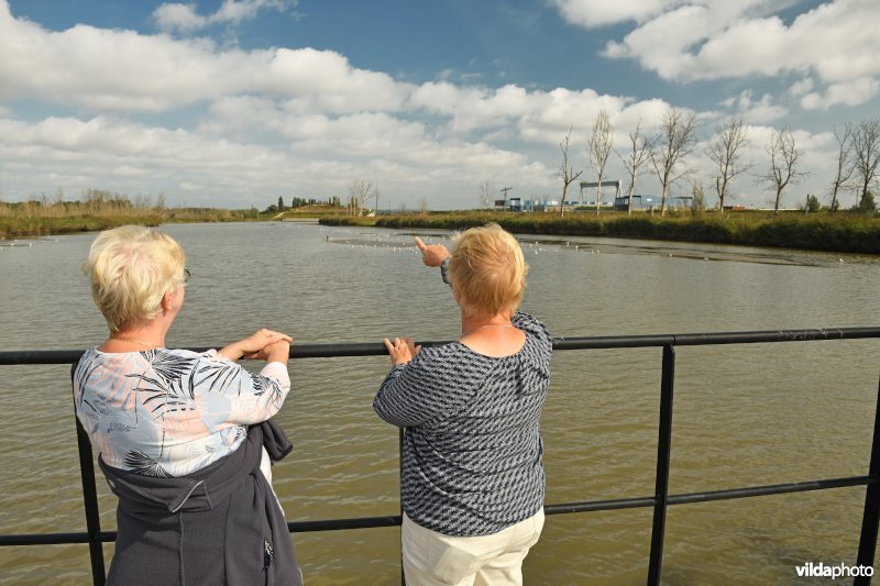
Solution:
M 101 232 L 82 268 L 110 330 L 74 374 L 77 417 L 119 497 L 108 584 L 300 584 L 271 487 L 270 460 L 290 445 L 267 421 L 290 389 L 290 336 L 167 349 L 189 270 L 153 230 Z M 266 365 L 254 375 L 243 357 Z

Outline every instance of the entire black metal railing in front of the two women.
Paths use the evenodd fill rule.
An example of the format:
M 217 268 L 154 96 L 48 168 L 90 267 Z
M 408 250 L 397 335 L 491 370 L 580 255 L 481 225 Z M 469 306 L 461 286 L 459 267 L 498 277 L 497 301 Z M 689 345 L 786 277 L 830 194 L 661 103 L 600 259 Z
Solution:
M 564 502 L 544 506 L 546 515 L 563 515 L 574 512 L 631 509 L 653 507 L 651 528 L 651 549 L 648 565 L 648 584 L 660 583 L 663 561 L 663 538 L 666 534 L 666 515 L 670 505 L 706 502 L 735 498 L 801 493 L 806 490 L 824 490 L 850 486 L 866 486 L 865 508 L 862 512 L 861 533 L 856 557 L 856 565 L 872 567 L 877 549 L 878 527 L 880 526 L 880 385 L 878 402 L 875 408 L 875 425 L 871 443 L 871 456 L 868 474 L 845 478 L 822 478 L 815 480 L 750 486 L 713 490 L 705 493 L 669 494 L 669 467 L 672 444 L 672 405 L 675 383 L 675 347 L 702 346 L 718 344 L 755 344 L 776 342 L 812 342 L 821 340 L 879 339 L 878 328 L 836 328 L 821 330 L 785 330 L 761 332 L 724 332 L 724 333 L 689 333 L 663 335 L 626 335 L 598 338 L 560 338 L 553 341 L 553 349 L 563 350 L 600 350 L 600 349 L 635 349 L 661 347 L 662 369 L 660 375 L 660 421 L 657 442 L 657 473 L 654 494 L 649 497 L 622 498 L 613 500 L 592 500 L 584 502 Z M 421 342 L 425 346 L 446 342 Z M 190 349 L 197 352 L 207 349 Z M 70 364 L 74 365 L 82 355 L 81 350 L 21 351 L 0 352 L 0 366 L 16 364 Z M 290 347 L 292 358 L 327 358 L 342 356 L 378 356 L 387 354 L 383 344 L 310 344 Z M 101 531 L 98 515 L 98 496 L 95 485 L 95 462 L 91 445 L 79 421 L 77 442 L 79 446 L 79 467 L 82 478 L 82 495 L 86 515 L 86 532 L 79 533 L 37 533 L 0 535 L 3 545 L 47 545 L 88 543 L 91 556 L 92 581 L 102 585 L 106 579 L 102 544 L 116 540 L 116 532 Z M 400 432 L 403 438 L 403 432 Z M 399 445 L 398 445 L 399 450 Z M 287 523 L 292 532 L 334 531 L 342 529 L 366 529 L 395 527 L 402 523 L 402 515 L 384 517 L 359 517 L 353 519 L 323 519 Z M 854 584 L 868 585 L 870 576 L 856 577 Z

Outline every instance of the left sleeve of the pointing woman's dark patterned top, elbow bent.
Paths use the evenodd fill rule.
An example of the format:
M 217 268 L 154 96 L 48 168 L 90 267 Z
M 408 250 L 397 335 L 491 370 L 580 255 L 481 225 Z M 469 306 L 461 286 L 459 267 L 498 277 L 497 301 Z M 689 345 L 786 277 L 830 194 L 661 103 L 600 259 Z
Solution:
M 466 361 L 444 361 L 424 349 L 382 382 L 373 409 L 398 428 L 415 427 L 460 411 L 485 380 L 485 368 Z

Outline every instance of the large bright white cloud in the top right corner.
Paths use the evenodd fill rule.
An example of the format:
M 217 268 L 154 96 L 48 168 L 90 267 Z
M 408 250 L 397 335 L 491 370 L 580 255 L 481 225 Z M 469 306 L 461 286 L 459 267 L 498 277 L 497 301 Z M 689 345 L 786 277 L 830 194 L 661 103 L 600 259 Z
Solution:
M 771 0 L 693 0 L 690 2 L 635 2 L 626 9 L 603 9 L 600 0 L 557 0 L 563 18 L 584 26 L 639 20 L 623 40 L 610 41 L 604 55 L 631 58 L 670 80 L 814 77 L 834 96 L 806 100 L 811 108 L 829 103 L 854 106 L 873 95 L 866 91 L 880 80 L 880 35 L 867 23 L 880 14 L 877 0 L 831 0 L 800 14 L 791 23 L 776 15 L 792 2 Z M 615 4 L 608 2 L 607 4 Z M 616 4 L 615 4 L 616 5 Z M 605 15 L 603 10 L 615 15 Z M 622 13 L 623 12 L 623 13 Z M 843 100 L 840 84 L 858 80 L 862 101 Z M 866 81 L 867 80 L 867 81 Z M 842 86 L 844 87 L 844 86 Z M 796 88 L 804 91 L 802 87 Z

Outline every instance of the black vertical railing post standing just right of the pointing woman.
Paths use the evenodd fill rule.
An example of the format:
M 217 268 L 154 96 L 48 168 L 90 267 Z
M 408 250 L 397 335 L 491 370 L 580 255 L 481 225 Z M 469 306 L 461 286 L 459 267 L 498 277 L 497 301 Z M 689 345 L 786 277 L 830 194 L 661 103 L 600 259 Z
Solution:
M 651 526 L 651 559 L 648 584 L 660 584 L 663 562 L 663 534 L 669 498 L 669 462 L 672 449 L 672 390 L 675 384 L 675 349 L 663 346 L 663 371 L 660 379 L 660 424 L 657 440 L 657 482 L 654 486 L 653 524 Z

